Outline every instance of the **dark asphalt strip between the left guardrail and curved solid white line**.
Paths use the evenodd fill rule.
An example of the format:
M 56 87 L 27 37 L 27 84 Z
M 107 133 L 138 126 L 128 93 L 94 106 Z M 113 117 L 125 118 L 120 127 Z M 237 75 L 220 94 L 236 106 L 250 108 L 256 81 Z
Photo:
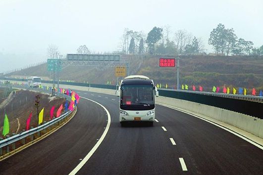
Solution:
M 76 115 L 59 130 L 0 161 L 1 175 L 67 175 L 97 143 L 107 124 L 105 110 L 80 99 Z

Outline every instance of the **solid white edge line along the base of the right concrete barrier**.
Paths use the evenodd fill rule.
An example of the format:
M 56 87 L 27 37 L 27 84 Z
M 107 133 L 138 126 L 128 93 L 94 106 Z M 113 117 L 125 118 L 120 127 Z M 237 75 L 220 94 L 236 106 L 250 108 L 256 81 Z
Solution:
M 189 113 L 189 112 L 186 112 L 186 111 L 177 109 L 177 108 L 175 108 L 175 107 L 167 106 L 167 105 L 161 104 L 161 103 L 157 103 L 157 104 L 158 104 L 158 105 L 161 105 L 161 106 L 165 106 L 165 107 L 171 108 L 171 109 L 175 109 L 175 110 L 177 110 L 177 111 L 180 111 L 180 112 L 189 114 L 189 115 L 191 115 L 191 116 L 194 116 L 194 117 L 196 117 L 196 118 L 199 118 L 199 119 L 201 119 L 201 120 L 204 120 L 204 121 L 206 121 L 206 122 L 208 122 L 208 123 L 210 123 L 210 124 L 212 124 L 212 125 L 215 125 L 215 126 L 221 128 L 221 129 L 225 130 L 225 131 L 228 131 L 228 132 L 230 132 L 230 133 L 232 133 L 232 134 L 234 134 L 234 135 L 236 135 L 236 136 L 238 136 L 238 137 L 240 137 L 240 138 L 248 141 L 249 143 L 251 143 L 251 144 L 253 144 L 253 145 L 255 145 L 255 146 L 257 146 L 258 148 L 260 148 L 260 149 L 263 150 L 263 146 L 262 146 L 262 145 L 260 145 L 260 144 L 258 144 L 258 143 L 256 143 L 256 142 L 248 139 L 247 137 L 245 137 L 245 136 L 243 136 L 243 135 L 241 135 L 241 134 L 239 134 L 239 133 L 237 133 L 237 132 L 235 132 L 235 131 L 232 131 L 232 130 L 230 130 L 230 129 L 228 129 L 228 128 L 225 128 L 225 127 L 223 127 L 223 126 L 221 126 L 221 125 L 218 125 L 218 124 L 216 124 L 216 123 L 214 123 L 214 122 L 211 122 L 210 120 L 207 120 L 207 119 L 204 119 L 204 118 L 202 118 L 202 117 L 199 117 L 199 116 L 197 116 L 197 115 L 195 115 L 195 114 L 192 114 L 192 113 Z

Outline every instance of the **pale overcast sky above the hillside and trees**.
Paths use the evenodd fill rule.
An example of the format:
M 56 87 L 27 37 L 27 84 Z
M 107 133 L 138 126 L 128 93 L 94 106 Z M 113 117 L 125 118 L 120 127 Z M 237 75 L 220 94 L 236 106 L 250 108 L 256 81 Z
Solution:
M 0 72 L 46 60 L 49 44 L 61 54 L 82 44 L 117 50 L 124 28 L 147 34 L 168 24 L 173 33 L 185 29 L 202 37 L 211 51 L 210 32 L 222 23 L 260 46 L 262 9 L 262 0 L 0 0 L 0 60 L 8 59 Z

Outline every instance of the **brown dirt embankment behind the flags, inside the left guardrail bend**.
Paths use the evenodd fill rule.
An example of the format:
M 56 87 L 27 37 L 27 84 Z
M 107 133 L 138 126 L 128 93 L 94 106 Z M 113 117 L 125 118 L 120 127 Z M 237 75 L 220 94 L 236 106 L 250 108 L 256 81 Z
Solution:
M 5 104 L 1 105 L 0 108 L 0 136 L 2 133 L 4 111 L 8 116 L 10 131 L 8 135 L 12 133 L 18 133 L 26 128 L 26 120 L 32 111 L 32 118 L 30 126 L 36 127 L 38 123 L 37 109 L 35 107 L 36 95 L 40 95 L 40 107 L 39 112 L 44 107 L 44 119 L 43 121 L 49 121 L 50 119 L 50 109 L 55 105 L 54 114 L 58 107 L 65 103 L 64 98 L 50 98 L 48 94 L 43 94 L 39 92 L 33 92 L 29 90 L 17 90 L 15 96 L 10 95 L 5 101 Z M 63 110 L 64 111 L 64 107 Z

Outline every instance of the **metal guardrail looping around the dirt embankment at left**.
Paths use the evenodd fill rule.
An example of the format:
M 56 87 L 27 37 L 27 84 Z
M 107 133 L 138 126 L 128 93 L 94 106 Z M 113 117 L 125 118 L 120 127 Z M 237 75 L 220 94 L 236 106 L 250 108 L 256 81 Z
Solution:
M 31 87 L 23 86 L 23 85 L 11 85 L 11 86 L 12 86 L 12 88 L 20 88 L 20 89 L 38 91 L 38 92 L 49 93 L 49 94 L 52 92 L 52 90 L 50 90 L 50 89 L 48 90 L 47 88 L 46 89 L 45 88 L 31 88 Z M 3 83 L 0 83 L 0 87 L 5 87 L 5 85 Z M 68 101 L 71 100 L 70 96 L 63 94 L 63 93 L 55 92 L 55 95 L 60 96 L 60 97 L 64 97 Z M 53 119 L 47 123 L 44 123 L 41 126 L 38 126 L 36 128 L 32 128 L 28 131 L 23 131 L 21 133 L 18 133 L 18 134 L 12 135 L 10 137 L 7 137 L 3 140 L 0 140 L 0 156 L 3 156 L 5 154 L 9 153 L 9 145 L 12 145 L 13 150 L 15 150 L 16 149 L 15 143 L 17 141 L 23 140 L 22 144 L 25 144 L 25 138 L 26 137 L 28 137 L 30 135 L 34 137 L 35 133 L 40 133 L 41 131 L 43 131 L 49 127 L 52 127 L 57 123 L 59 124 L 60 121 L 64 121 L 66 119 L 66 117 L 68 117 L 71 113 L 72 113 L 72 111 L 68 111 L 68 112 L 62 114 L 61 116 L 59 116 L 58 118 L 55 118 L 55 119 Z M 31 141 L 33 140 L 33 137 L 31 139 Z M 5 147 L 5 146 L 6 146 L 6 152 L 5 152 L 5 154 L 3 154 L 3 147 Z

